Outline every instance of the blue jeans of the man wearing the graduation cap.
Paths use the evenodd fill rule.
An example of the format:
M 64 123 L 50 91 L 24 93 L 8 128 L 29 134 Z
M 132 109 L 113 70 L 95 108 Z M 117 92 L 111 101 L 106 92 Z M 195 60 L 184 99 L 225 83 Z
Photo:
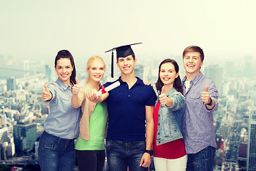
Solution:
M 107 164 L 109 171 L 146 171 L 146 167 L 139 166 L 146 150 L 145 141 L 107 140 Z

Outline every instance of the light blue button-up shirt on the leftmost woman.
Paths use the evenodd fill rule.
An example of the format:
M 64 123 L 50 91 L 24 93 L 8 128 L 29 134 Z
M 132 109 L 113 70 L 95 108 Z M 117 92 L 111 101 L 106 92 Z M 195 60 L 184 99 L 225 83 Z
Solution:
M 72 90 L 59 78 L 47 86 L 52 98 L 49 101 L 50 113 L 44 123 L 44 130 L 59 138 L 77 137 L 81 108 L 74 108 L 71 103 Z

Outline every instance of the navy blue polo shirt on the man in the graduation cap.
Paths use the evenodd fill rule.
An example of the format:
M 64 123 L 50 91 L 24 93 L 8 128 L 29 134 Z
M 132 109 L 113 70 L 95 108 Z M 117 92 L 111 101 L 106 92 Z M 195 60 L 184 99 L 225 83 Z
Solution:
M 109 125 L 107 140 L 141 141 L 145 140 L 145 106 L 154 105 L 157 95 L 152 86 L 144 85 L 137 78 L 132 88 L 118 79 L 120 86 L 109 91 L 107 110 Z M 104 84 L 109 86 L 110 82 Z

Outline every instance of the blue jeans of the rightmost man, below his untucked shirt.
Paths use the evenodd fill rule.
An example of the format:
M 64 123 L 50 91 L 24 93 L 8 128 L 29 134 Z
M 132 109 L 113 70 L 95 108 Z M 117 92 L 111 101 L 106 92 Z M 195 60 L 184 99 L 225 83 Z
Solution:
M 208 146 L 195 154 L 187 155 L 187 171 L 212 171 L 215 147 Z

